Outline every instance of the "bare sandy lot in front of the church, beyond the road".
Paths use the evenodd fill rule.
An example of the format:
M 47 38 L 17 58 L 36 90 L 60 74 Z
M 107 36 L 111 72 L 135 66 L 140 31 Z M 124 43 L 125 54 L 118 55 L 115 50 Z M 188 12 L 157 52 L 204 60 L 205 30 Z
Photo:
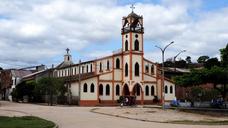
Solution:
M 137 107 L 102 107 L 92 109 L 92 112 L 111 115 L 116 117 L 129 118 L 134 120 L 142 120 L 148 122 L 170 122 L 180 120 L 190 121 L 224 121 L 228 120 L 227 116 L 215 117 L 208 115 L 200 115 L 194 113 L 187 113 L 175 109 L 160 109 L 159 106 L 137 106 Z

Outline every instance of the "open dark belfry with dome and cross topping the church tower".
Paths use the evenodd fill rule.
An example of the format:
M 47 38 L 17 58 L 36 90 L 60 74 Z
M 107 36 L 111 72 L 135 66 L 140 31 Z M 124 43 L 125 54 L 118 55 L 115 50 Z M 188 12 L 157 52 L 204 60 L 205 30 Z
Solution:
M 132 12 L 122 19 L 122 34 L 128 32 L 143 33 L 143 17 L 134 13 L 134 6 L 131 6 Z

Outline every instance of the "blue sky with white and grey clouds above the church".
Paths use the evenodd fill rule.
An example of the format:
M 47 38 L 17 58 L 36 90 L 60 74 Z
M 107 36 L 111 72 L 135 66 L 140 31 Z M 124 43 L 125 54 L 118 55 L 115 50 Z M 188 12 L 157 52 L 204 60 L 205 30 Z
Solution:
M 227 0 L 0 0 L 0 67 L 59 64 L 69 47 L 75 63 L 121 48 L 121 18 L 144 17 L 145 57 L 161 61 L 201 55 L 219 58 L 228 41 Z

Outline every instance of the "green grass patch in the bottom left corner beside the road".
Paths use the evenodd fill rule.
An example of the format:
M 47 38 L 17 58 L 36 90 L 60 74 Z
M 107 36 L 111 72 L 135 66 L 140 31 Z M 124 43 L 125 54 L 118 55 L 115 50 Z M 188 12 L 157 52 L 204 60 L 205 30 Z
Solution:
M 0 116 L 0 128 L 53 128 L 54 126 L 53 122 L 34 116 Z

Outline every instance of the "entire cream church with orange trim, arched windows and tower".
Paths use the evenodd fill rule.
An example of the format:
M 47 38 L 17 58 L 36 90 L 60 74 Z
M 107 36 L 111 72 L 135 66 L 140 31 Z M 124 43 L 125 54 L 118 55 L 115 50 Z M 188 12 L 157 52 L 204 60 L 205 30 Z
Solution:
M 133 11 L 122 19 L 122 48 L 110 56 L 73 64 L 69 49 L 54 76 L 64 78 L 68 93 L 81 106 L 114 105 L 120 96 L 136 96 L 138 104 L 162 98 L 161 69 L 144 58 L 143 17 Z M 175 99 L 175 85 L 165 78 L 165 101 Z

